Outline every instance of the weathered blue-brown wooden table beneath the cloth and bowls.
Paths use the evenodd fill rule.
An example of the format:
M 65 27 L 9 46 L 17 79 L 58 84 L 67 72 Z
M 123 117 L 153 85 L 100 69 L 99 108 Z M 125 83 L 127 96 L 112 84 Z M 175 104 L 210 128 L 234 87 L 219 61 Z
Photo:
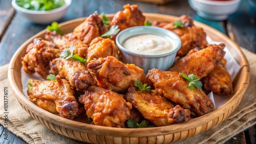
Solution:
M 124 0 L 76 0 L 72 2 L 66 15 L 58 22 L 89 16 L 96 10 L 105 14 L 116 13 L 123 10 L 122 6 L 127 3 L 137 4 L 140 10 L 145 13 L 161 13 L 175 16 L 186 14 L 227 34 L 240 46 L 256 53 L 256 19 L 248 11 L 251 6 L 248 1 L 251 3 L 254 0 L 242 0 L 239 10 L 230 15 L 228 19 L 211 21 L 199 17 L 190 8 L 186 0 L 173 1 L 162 6 Z M 11 1 L 0 0 L 0 66 L 9 63 L 12 55 L 22 43 L 46 27 L 47 25 L 36 25 L 20 14 L 15 13 L 11 6 Z M 255 127 L 255 125 L 252 126 L 230 138 L 225 143 L 256 143 Z M 9 132 L 9 140 L 6 141 L 2 135 L 3 130 L 3 126 L 0 126 L 0 143 L 26 143 L 11 132 Z

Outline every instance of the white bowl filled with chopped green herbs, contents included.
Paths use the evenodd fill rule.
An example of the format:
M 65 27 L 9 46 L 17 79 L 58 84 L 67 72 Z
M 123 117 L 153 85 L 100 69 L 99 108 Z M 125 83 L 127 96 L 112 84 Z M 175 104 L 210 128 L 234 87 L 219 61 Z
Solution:
M 49 24 L 61 19 L 72 0 L 12 0 L 15 11 L 34 23 Z

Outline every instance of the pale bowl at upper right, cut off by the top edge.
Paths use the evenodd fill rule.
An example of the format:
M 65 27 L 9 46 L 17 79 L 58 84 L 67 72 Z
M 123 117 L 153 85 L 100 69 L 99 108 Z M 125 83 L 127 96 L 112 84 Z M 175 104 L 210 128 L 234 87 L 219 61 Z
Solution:
M 211 20 L 225 20 L 228 16 L 238 10 L 241 0 L 210 1 L 210 0 L 188 0 L 191 8 L 198 15 Z

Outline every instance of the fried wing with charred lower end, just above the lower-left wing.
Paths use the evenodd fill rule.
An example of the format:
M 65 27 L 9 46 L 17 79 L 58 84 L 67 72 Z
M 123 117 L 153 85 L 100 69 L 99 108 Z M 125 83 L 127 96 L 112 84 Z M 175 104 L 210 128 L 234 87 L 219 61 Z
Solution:
M 86 70 L 86 66 L 76 60 L 57 58 L 50 62 L 50 67 L 51 74 L 65 78 L 76 90 L 84 91 L 94 84 L 94 79 Z

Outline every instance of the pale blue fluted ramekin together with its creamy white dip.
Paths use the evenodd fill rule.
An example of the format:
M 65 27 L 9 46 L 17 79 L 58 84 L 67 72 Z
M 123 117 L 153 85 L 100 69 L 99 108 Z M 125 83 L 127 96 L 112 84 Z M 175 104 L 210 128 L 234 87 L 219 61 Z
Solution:
M 181 40 L 174 32 L 152 26 L 138 26 L 121 31 L 116 44 L 124 63 L 143 68 L 167 70 L 175 60 Z

